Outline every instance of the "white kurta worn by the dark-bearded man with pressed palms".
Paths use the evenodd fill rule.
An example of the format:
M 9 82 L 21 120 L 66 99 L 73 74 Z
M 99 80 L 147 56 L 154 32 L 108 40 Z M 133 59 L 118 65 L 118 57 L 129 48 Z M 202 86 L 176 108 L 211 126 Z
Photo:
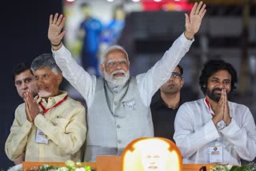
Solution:
M 184 163 L 209 163 L 208 148 L 221 145 L 223 163 L 240 164 L 240 159 L 256 157 L 256 128 L 250 109 L 229 101 L 230 125 L 222 130 L 214 125 L 210 109 L 203 99 L 186 102 L 174 121 L 174 140 Z

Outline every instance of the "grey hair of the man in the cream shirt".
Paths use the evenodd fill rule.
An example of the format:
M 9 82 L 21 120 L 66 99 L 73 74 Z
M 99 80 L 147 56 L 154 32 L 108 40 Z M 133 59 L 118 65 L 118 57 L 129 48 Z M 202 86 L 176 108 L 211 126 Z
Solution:
M 52 70 L 56 75 L 58 75 L 59 72 L 62 72 L 57 66 L 52 54 L 40 54 L 31 64 L 31 70 L 33 72 L 44 67 Z

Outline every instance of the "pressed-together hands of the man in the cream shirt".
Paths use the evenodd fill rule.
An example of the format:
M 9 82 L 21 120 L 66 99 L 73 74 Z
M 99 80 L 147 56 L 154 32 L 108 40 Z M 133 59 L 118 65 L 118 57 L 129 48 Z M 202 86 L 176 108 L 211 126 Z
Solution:
M 40 113 L 37 101 L 34 100 L 33 94 L 30 89 L 26 89 L 24 93 L 24 101 L 26 104 L 26 118 L 28 121 L 33 122 L 34 118 Z

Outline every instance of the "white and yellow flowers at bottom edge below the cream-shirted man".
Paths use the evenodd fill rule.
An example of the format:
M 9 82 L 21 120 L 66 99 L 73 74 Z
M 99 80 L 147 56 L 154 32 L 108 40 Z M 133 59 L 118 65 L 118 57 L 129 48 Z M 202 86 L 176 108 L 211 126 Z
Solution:
M 41 165 L 34 171 L 92 171 L 90 166 L 82 165 L 81 162 L 66 161 L 66 166 Z

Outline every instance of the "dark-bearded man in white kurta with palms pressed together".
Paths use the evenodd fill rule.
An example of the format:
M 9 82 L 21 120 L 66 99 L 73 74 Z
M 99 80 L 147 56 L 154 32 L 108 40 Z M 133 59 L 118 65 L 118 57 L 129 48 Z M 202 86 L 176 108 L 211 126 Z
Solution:
M 184 103 L 174 121 L 174 140 L 184 163 L 240 164 L 256 157 L 254 117 L 245 105 L 228 101 L 238 82 L 222 60 L 206 62 L 199 78 L 205 98 Z

